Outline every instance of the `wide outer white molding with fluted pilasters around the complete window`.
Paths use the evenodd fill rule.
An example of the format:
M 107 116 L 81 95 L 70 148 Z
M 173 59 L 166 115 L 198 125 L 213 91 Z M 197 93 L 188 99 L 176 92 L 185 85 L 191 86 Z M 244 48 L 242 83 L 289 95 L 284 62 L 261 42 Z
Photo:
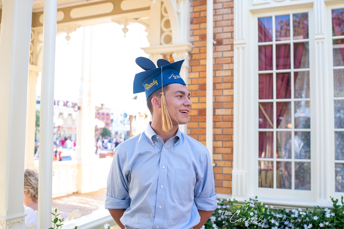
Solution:
M 333 119 L 332 20 L 329 7 L 344 7 L 342 0 L 234 1 L 234 134 L 232 195 L 243 202 L 258 195 L 266 204 L 288 207 L 331 207 L 334 192 L 334 147 L 329 117 Z M 300 10 L 301 9 L 301 10 Z M 258 191 L 258 29 L 257 18 L 284 13 L 309 13 L 311 99 L 311 194 L 307 198 Z M 270 12 L 270 15 L 269 15 Z M 256 19 L 255 19 L 256 18 Z M 323 20 L 323 19 L 326 20 Z M 312 31 L 314 29 L 314 31 Z M 331 51 L 330 51 L 331 50 Z M 333 95 L 333 94 L 332 94 Z M 331 105 L 332 104 L 332 105 Z M 331 111 L 332 106 L 332 111 Z M 331 113 L 332 112 L 332 116 Z M 333 122 L 332 122 L 333 123 Z M 332 129 L 333 133 L 333 129 Z M 331 142 L 332 141 L 332 142 Z M 331 151 L 332 150 L 332 151 Z M 256 167 L 256 168 L 255 168 Z M 263 188 L 266 190 L 266 188 Z M 267 190 L 269 191 L 269 190 Z M 299 191 L 299 190 L 298 190 Z

